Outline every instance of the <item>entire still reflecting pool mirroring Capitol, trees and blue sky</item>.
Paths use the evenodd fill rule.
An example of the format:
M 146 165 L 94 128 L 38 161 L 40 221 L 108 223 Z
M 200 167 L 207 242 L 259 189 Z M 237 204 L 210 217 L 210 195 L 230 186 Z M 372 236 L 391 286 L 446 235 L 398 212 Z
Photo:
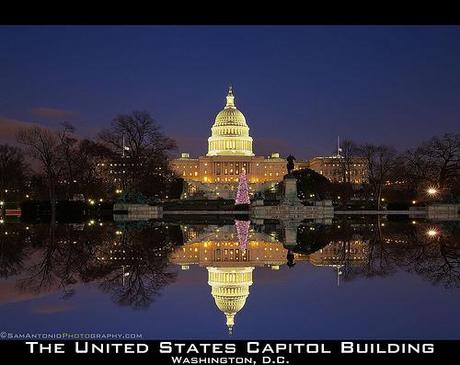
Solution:
M 460 338 L 460 223 L 0 225 L 0 330 Z

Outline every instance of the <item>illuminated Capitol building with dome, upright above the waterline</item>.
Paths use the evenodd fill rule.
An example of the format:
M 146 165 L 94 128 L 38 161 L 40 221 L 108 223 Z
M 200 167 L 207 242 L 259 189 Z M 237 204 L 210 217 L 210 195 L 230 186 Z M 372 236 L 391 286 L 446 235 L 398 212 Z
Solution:
M 211 199 L 231 199 L 243 170 L 247 175 L 250 194 L 271 188 L 283 179 L 287 173 L 286 160 L 279 153 L 272 153 L 267 158 L 256 156 L 249 130 L 245 116 L 235 105 L 232 87 L 229 87 L 226 105 L 217 114 L 211 127 L 206 156 L 190 158 L 188 153 L 182 153 L 180 158 L 172 161 L 173 171 L 186 183 L 183 198 L 202 195 Z M 339 161 L 335 161 L 339 158 L 339 155 L 317 157 L 312 160 L 315 162 L 312 166 L 308 161 L 298 160 L 296 168 L 312 168 L 331 181 L 339 181 Z M 318 165 L 318 159 L 324 162 Z M 356 175 L 362 176 L 362 171 L 356 171 Z M 361 179 L 356 182 L 360 183 Z

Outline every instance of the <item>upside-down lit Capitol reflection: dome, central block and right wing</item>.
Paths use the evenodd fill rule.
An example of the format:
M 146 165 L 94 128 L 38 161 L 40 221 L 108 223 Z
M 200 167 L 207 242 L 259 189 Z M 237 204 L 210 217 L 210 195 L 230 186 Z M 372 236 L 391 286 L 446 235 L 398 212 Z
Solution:
M 253 273 L 258 268 L 271 268 L 277 272 L 287 264 L 288 254 L 295 262 L 309 262 L 320 267 L 337 270 L 347 265 L 362 266 L 368 258 L 369 242 L 362 237 L 350 241 L 330 241 L 328 245 L 309 254 L 295 253 L 283 246 L 275 235 L 258 232 L 249 224 L 234 226 L 182 226 L 184 245 L 177 247 L 170 262 L 188 270 L 190 265 L 204 267 L 208 271 L 208 284 L 217 308 L 224 313 L 229 332 L 250 294 L 254 282 Z M 242 232 L 245 228 L 246 232 Z M 294 239 L 295 242 L 295 239 Z

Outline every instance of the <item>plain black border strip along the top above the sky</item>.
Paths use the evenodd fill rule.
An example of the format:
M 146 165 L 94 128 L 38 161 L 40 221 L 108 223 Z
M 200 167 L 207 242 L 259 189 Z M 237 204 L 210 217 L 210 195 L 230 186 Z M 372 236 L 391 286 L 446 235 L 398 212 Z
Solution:
M 341 3 L 338 3 L 341 4 Z M 206 3 L 144 2 L 80 3 L 53 5 L 2 4 L 3 25 L 460 25 L 460 12 L 453 5 L 367 4 L 338 5 L 334 2 L 237 1 Z M 16 8 L 15 8 L 16 7 Z M 322 7 L 322 9 L 320 8 Z

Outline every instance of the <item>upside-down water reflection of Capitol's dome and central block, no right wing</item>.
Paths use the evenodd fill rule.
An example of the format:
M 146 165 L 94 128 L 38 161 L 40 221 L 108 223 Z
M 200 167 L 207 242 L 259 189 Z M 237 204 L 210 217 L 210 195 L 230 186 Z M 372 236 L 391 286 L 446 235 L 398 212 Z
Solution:
M 253 283 L 256 267 L 278 270 L 286 262 L 286 250 L 273 237 L 249 230 L 238 232 L 234 226 L 208 226 L 205 232 L 195 235 L 183 227 L 184 236 L 194 237 L 177 248 L 170 261 L 187 270 L 189 265 L 206 267 L 208 284 L 217 308 L 226 318 L 229 333 L 235 324 L 236 314 L 243 308 Z M 247 241 L 240 242 L 247 236 Z

